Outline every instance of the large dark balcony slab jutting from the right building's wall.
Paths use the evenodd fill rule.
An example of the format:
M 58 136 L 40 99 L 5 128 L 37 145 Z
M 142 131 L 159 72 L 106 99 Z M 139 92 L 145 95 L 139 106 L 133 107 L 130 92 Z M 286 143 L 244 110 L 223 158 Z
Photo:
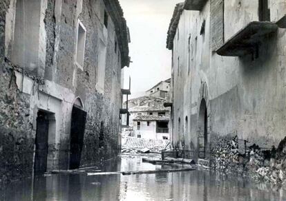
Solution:
M 244 56 L 257 50 L 257 45 L 263 43 L 268 34 L 276 32 L 278 25 L 267 21 L 253 21 L 242 28 L 222 47 L 216 50 L 221 56 Z

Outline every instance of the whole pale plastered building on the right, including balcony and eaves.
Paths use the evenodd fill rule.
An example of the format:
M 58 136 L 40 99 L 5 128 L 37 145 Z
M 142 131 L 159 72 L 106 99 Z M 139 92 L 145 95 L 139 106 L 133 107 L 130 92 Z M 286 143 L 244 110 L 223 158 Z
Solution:
M 166 41 L 173 145 L 206 159 L 226 147 L 241 160 L 254 144 L 283 149 L 285 13 L 285 0 L 178 3 Z

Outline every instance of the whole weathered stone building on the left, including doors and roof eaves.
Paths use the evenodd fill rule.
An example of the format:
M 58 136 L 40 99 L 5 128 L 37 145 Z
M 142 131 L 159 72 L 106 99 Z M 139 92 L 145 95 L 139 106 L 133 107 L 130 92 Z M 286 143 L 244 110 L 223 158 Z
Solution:
M 130 40 L 119 2 L 0 9 L 0 183 L 115 156 Z

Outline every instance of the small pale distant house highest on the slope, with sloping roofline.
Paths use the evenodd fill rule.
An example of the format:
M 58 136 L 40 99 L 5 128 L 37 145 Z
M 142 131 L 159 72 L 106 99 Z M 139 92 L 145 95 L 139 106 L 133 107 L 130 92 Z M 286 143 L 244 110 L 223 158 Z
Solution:
M 171 87 L 171 78 L 166 81 L 161 81 L 151 89 L 147 90 L 146 96 L 154 96 L 159 98 L 169 99 L 169 92 Z

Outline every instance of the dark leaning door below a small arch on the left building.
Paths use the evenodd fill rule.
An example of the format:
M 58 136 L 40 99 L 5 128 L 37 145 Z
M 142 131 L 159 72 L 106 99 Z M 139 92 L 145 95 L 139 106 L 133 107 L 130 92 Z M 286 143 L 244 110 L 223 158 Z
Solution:
M 85 126 L 86 112 L 74 105 L 70 125 L 70 169 L 79 168 Z

